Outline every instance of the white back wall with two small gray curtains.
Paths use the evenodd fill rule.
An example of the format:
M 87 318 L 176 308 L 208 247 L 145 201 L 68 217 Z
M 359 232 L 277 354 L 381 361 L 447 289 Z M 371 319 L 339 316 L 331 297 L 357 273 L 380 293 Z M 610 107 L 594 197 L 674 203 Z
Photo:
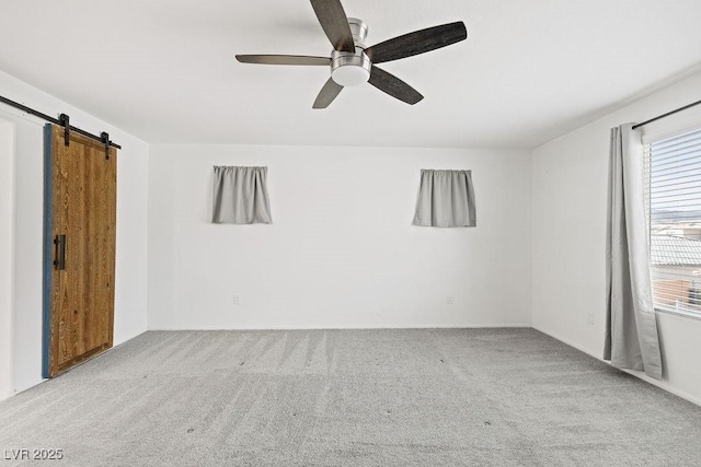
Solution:
M 274 224 L 211 224 L 212 165 L 267 165 Z M 475 229 L 411 225 L 421 168 L 472 170 Z M 530 325 L 529 151 L 152 145 L 149 172 L 151 329 Z

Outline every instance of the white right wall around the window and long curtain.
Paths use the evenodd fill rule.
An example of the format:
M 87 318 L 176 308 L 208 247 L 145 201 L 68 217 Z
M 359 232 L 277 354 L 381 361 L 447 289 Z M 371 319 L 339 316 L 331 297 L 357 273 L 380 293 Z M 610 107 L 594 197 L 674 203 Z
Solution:
M 701 74 L 671 85 L 533 151 L 533 326 L 597 358 L 604 354 L 606 200 L 611 127 L 644 121 L 699 100 Z M 701 109 L 644 132 L 701 126 Z M 594 324 L 588 324 L 589 314 Z M 701 320 L 658 314 L 663 387 L 701 404 Z

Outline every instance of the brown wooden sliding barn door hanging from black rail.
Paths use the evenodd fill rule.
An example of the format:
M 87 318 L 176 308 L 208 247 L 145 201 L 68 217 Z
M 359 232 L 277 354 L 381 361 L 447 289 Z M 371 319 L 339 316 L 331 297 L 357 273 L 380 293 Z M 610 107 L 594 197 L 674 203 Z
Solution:
M 45 132 L 44 376 L 112 347 L 117 153 L 64 128 Z M 108 156 L 107 156 L 108 155 Z

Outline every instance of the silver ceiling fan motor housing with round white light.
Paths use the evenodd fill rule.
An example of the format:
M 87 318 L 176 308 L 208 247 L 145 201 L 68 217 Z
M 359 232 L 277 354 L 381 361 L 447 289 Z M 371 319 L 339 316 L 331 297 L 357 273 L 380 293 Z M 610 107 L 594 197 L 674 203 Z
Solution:
M 368 35 L 368 26 L 363 20 L 348 17 L 348 25 L 353 33 L 355 52 L 331 52 L 331 78 L 342 86 L 355 86 L 370 79 L 372 62 L 365 54 L 365 38 Z

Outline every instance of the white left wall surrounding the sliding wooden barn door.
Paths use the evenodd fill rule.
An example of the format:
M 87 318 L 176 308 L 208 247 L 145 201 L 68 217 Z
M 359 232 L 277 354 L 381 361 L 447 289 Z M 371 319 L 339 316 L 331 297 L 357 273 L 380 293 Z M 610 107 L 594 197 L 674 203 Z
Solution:
M 145 331 L 148 144 L 3 72 L 0 72 L 0 95 L 47 115 L 66 113 L 72 125 L 97 135 L 107 131 L 113 141 L 122 144 L 117 170 L 115 345 Z M 0 105 L 0 117 L 14 127 L 11 393 L 15 393 L 42 381 L 44 121 L 5 105 Z M 3 186 L 2 192 L 5 191 Z

